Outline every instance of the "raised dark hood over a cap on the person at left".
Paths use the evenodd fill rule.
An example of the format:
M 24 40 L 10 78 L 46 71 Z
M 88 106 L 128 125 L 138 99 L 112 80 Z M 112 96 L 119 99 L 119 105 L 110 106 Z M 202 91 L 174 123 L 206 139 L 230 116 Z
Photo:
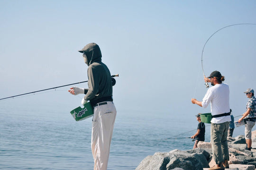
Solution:
M 79 50 L 79 52 L 86 55 L 88 66 L 94 62 L 101 62 L 101 49 L 96 43 L 85 45 L 82 50 Z

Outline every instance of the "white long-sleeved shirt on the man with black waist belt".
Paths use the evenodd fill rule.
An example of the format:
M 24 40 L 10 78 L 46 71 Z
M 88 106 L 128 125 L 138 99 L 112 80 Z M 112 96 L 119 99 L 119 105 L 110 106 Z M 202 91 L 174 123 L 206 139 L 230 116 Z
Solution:
M 221 83 L 210 87 L 202 99 L 202 107 L 206 108 L 209 103 L 211 115 L 229 113 L 229 85 Z M 230 116 L 221 116 L 212 118 L 210 122 L 220 124 L 230 121 Z

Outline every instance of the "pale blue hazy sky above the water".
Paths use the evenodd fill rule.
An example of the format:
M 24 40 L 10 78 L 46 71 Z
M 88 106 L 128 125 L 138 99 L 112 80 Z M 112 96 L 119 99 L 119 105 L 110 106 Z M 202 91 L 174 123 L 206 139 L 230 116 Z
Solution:
M 0 98 L 87 81 L 77 50 L 94 42 L 111 74 L 119 73 L 113 87 L 119 114 L 207 113 L 210 106 L 191 104 L 207 90 L 203 45 L 221 27 L 256 23 L 255 16 L 255 0 L 0 0 Z M 256 90 L 255 55 L 255 25 L 223 29 L 205 46 L 205 74 L 226 77 L 234 115 L 245 111 L 243 92 Z M 82 96 L 68 89 L 0 102 L 72 110 Z

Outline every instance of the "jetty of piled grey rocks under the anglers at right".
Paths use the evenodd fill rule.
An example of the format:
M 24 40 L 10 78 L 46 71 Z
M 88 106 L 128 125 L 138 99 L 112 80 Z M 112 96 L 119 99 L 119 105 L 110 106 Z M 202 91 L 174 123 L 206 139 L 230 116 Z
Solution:
M 229 169 L 256 170 L 256 149 L 246 150 L 245 136 L 228 138 Z M 256 148 L 256 131 L 252 133 L 252 148 Z M 199 142 L 198 148 L 181 151 L 156 152 L 140 162 L 136 170 L 208 170 L 214 166 L 211 144 Z

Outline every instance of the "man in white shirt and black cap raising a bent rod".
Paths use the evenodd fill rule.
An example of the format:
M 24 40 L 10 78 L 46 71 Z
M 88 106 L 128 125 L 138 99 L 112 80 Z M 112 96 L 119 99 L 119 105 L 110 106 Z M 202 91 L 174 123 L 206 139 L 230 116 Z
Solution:
M 224 170 L 229 168 L 229 148 L 227 142 L 229 122 L 231 121 L 229 113 L 229 86 L 222 83 L 225 77 L 218 71 L 214 71 L 209 77 L 205 77 L 205 82 L 210 82 L 212 87 L 208 89 L 202 101 L 192 98 L 193 104 L 206 108 L 210 104 L 211 110 L 211 128 L 210 141 L 212 156 L 216 165 L 209 170 Z

